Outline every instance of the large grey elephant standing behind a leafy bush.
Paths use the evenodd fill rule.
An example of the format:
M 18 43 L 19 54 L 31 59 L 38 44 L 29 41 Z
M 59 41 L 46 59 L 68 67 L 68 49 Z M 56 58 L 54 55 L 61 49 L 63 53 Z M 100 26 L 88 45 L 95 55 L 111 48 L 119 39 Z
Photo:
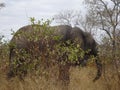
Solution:
M 23 76 L 27 74 L 26 69 L 19 69 L 23 65 L 22 63 L 25 62 L 24 57 L 22 57 L 23 52 L 30 53 L 33 59 L 42 56 L 43 53 L 46 53 L 45 57 L 47 59 L 47 57 L 49 58 L 50 56 L 48 55 L 49 53 L 47 53 L 48 47 L 50 48 L 49 51 L 54 51 L 54 46 L 59 43 L 65 43 L 67 47 L 69 45 L 66 43 L 66 41 L 70 41 L 72 44 L 79 44 L 84 51 L 87 51 L 89 49 L 90 51 L 89 53 L 85 53 L 83 59 L 78 57 L 78 62 L 75 63 L 67 62 L 65 64 L 61 64 L 60 61 L 56 59 L 58 60 L 57 63 L 59 64 L 59 80 L 66 82 L 66 85 L 68 85 L 70 79 L 70 67 L 78 66 L 81 64 L 82 66 L 86 66 L 90 55 L 97 57 L 95 62 L 98 72 L 94 81 L 100 78 L 102 72 L 102 64 L 98 59 L 97 43 L 91 34 L 84 32 L 78 27 L 71 27 L 68 25 L 48 26 L 48 28 L 48 31 L 45 33 L 49 33 L 51 37 L 47 37 L 46 34 L 44 35 L 44 33 L 42 33 L 44 29 L 47 29 L 42 25 L 27 25 L 20 28 L 15 33 L 10 41 L 9 72 L 7 74 L 8 78 L 17 76 L 19 74 L 17 71 L 21 71 Z M 63 55 L 63 60 L 64 56 L 67 57 L 66 55 Z M 27 58 L 29 58 L 29 56 Z M 33 60 L 31 60 L 31 58 L 29 59 L 30 60 L 27 61 L 27 64 L 30 64 Z M 16 62 L 17 64 L 14 64 L 13 62 Z M 45 63 L 49 64 L 47 61 Z

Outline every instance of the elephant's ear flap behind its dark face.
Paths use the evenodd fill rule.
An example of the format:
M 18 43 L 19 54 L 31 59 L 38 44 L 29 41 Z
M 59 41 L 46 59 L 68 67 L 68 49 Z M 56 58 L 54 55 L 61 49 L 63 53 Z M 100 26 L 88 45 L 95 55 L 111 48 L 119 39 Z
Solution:
M 70 33 L 70 39 L 72 43 L 79 44 L 81 48 L 84 50 L 85 48 L 84 32 L 80 28 L 78 27 L 72 28 Z

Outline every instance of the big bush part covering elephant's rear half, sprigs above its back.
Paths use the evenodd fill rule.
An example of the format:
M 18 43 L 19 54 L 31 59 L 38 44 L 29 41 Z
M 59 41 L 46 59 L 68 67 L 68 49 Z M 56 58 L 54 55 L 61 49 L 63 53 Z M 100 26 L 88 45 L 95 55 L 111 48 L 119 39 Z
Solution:
M 13 56 L 11 57 L 10 65 L 12 66 L 12 72 L 15 75 L 23 76 L 25 72 L 34 72 L 36 68 L 42 63 L 42 58 L 49 50 L 49 40 L 51 40 L 53 30 L 50 30 L 50 20 L 36 21 L 35 18 L 30 18 L 31 29 L 20 29 L 18 32 L 13 32 L 13 42 L 9 44 L 10 48 L 13 48 Z M 28 49 L 18 48 L 20 41 L 25 39 L 25 44 L 28 44 Z M 22 42 L 24 43 L 24 42 Z M 43 44 L 44 51 L 39 51 L 39 44 Z M 48 61 L 49 62 L 49 61 Z M 39 69 L 38 69 L 39 70 Z M 38 71 L 37 71 L 38 72 Z

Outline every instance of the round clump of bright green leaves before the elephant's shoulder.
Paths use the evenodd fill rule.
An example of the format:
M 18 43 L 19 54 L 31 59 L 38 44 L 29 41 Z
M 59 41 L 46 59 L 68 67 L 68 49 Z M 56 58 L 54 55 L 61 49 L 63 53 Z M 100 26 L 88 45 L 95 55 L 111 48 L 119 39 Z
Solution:
M 63 64 L 74 64 L 78 62 L 79 58 L 83 59 L 85 55 L 85 51 L 81 49 L 79 44 L 71 43 L 69 40 L 55 45 L 54 53 Z

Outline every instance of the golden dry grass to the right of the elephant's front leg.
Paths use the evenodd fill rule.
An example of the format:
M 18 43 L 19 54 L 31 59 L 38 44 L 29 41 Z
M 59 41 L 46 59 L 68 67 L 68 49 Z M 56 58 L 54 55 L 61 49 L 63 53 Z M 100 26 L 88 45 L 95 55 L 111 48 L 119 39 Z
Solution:
M 94 67 L 85 67 L 79 70 L 78 68 L 72 69 L 71 71 L 71 90 L 119 90 L 118 83 L 113 78 L 109 79 L 109 83 L 106 82 L 104 76 L 98 81 L 92 82 L 95 77 Z M 106 75 L 110 75 L 107 73 Z M 111 75 L 110 75 L 111 76 Z M 107 76 L 106 76 L 107 77 Z M 108 78 L 108 77 L 107 77 Z M 110 85 L 108 88 L 108 84 Z M 119 88 L 117 88 L 119 87 Z

